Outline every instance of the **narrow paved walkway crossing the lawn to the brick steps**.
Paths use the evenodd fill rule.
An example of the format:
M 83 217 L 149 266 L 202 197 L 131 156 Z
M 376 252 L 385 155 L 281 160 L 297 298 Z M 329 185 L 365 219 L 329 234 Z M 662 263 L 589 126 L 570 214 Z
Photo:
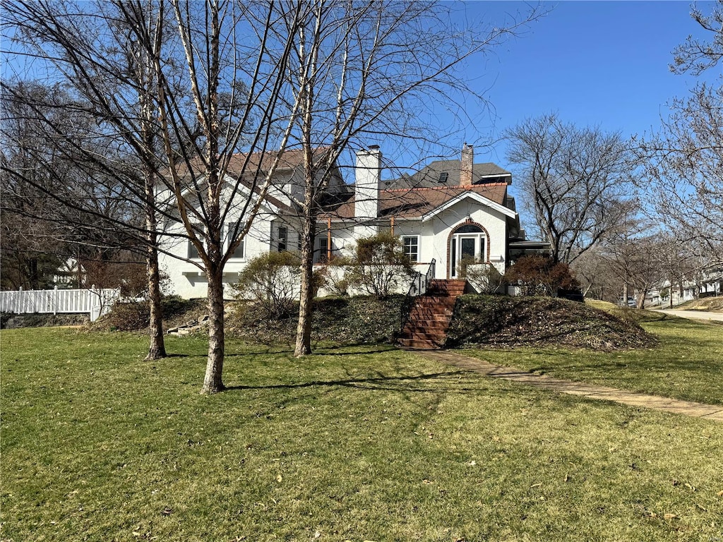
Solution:
M 418 356 L 434 361 L 459 367 L 467 371 L 475 371 L 487 375 L 487 377 L 501 378 L 520 382 L 529 386 L 539 387 L 544 390 L 552 390 L 569 395 L 581 395 L 587 399 L 599 399 L 615 401 L 636 407 L 651 408 L 652 410 L 664 410 L 693 418 L 706 418 L 723 422 L 723 405 L 706 405 L 704 403 L 693 403 L 693 401 L 681 401 L 659 397 L 657 395 L 646 395 L 644 393 L 626 392 L 612 387 L 584 384 L 583 382 L 571 382 L 549 377 L 546 374 L 533 374 L 515 367 L 501 367 L 487 361 L 482 361 L 469 356 L 450 352 L 449 350 L 416 350 Z

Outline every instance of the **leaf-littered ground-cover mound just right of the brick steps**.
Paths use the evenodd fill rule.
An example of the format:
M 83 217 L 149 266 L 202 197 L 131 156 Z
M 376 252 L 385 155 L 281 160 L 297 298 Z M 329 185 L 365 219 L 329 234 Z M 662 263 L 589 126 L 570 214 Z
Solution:
M 544 297 L 460 296 L 447 346 L 565 345 L 596 350 L 646 348 L 656 338 L 636 322 L 575 301 Z

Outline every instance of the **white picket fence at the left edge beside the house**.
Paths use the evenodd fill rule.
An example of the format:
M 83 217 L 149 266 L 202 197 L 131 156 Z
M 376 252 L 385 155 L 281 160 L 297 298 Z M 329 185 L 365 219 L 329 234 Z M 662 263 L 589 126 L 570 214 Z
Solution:
M 121 291 L 111 288 L 80 290 L 0 291 L 0 312 L 12 314 L 87 313 L 95 321 L 111 309 Z

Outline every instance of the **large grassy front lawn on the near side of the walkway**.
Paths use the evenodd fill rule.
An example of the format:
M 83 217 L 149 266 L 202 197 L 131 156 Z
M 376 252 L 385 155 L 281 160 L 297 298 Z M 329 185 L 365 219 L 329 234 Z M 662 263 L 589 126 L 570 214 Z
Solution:
M 680 325 L 694 351 L 705 327 Z M 720 423 L 388 347 L 229 341 L 231 389 L 208 397 L 201 337 L 153 363 L 121 332 L 0 342 L 2 541 L 723 538 Z

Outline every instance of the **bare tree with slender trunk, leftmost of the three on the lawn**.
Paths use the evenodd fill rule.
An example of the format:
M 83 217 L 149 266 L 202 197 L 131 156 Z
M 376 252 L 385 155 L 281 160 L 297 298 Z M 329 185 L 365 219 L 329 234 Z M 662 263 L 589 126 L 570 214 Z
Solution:
M 125 6 L 132 19 L 116 16 L 112 4 L 70 2 L 6 2 L 4 29 L 22 54 L 42 60 L 36 66 L 45 77 L 60 82 L 69 96 L 57 106 L 83 111 L 93 119 L 85 140 L 70 140 L 69 126 L 44 113 L 37 101 L 28 103 L 48 140 L 88 179 L 83 194 L 46 187 L 61 208 L 88 223 L 123 231 L 129 244 L 146 252 L 147 295 L 150 301 L 150 345 L 147 359 L 166 356 L 161 321 L 161 291 L 157 254 L 155 190 L 163 162 L 158 159 L 151 56 L 132 40 L 132 28 L 153 26 L 153 4 L 136 1 Z M 149 30 L 150 31 L 150 30 Z M 15 100 L 26 99 L 14 93 Z M 17 174 L 17 172 L 16 172 Z M 52 172 L 51 172 L 52 174 Z M 32 184 L 27 176 L 25 183 Z M 62 186 L 62 183 L 59 184 Z M 97 208 L 98 193 L 106 199 L 134 205 L 137 212 L 111 216 Z M 90 217 L 90 218 L 89 218 Z M 98 222 L 100 220 L 100 223 Z M 77 227 L 74 221 L 72 224 Z

